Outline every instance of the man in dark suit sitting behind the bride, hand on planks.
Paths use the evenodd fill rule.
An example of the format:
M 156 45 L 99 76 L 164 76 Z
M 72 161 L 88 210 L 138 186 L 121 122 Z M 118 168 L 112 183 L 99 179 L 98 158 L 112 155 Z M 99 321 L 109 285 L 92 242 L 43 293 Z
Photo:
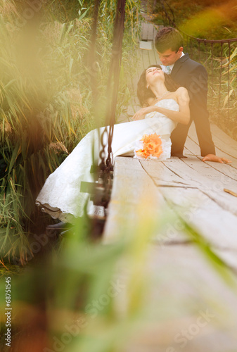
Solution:
M 156 34 L 155 48 L 162 65 L 171 70 L 170 76 L 181 87 L 188 89 L 191 119 L 188 125 L 178 124 L 171 134 L 172 156 L 183 157 L 184 144 L 191 122 L 194 121 L 200 154 L 203 161 L 229 162 L 215 155 L 207 111 L 207 71 L 183 52 L 183 37 L 172 27 L 164 27 Z

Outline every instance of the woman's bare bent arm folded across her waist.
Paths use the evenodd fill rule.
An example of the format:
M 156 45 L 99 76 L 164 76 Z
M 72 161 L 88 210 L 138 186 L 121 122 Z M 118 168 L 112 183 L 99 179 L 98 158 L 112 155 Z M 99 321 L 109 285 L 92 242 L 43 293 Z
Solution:
M 148 106 L 148 108 L 141 108 L 139 111 L 135 113 L 133 116 L 133 120 L 141 120 L 145 117 L 147 113 L 152 113 L 153 111 L 157 111 L 158 113 L 162 113 L 167 116 L 171 120 L 179 123 L 183 123 L 184 125 L 188 125 L 190 120 L 190 110 L 189 110 L 189 96 L 188 91 L 184 87 L 179 87 L 175 92 L 177 101 L 179 103 L 179 111 L 172 111 L 166 108 L 160 108 L 159 106 L 153 105 Z

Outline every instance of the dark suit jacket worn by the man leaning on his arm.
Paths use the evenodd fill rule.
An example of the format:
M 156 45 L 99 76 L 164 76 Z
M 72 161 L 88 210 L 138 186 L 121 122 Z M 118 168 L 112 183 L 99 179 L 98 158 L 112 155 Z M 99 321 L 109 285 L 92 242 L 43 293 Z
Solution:
M 207 111 L 207 71 L 204 66 L 191 60 L 185 54 L 174 63 L 172 79 L 188 89 L 190 97 L 191 121 L 188 125 L 178 124 L 171 134 L 172 155 L 181 155 L 191 122 L 194 120 L 200 145 L 201 156 L 215 154 L 210 132 L 209 113 Z

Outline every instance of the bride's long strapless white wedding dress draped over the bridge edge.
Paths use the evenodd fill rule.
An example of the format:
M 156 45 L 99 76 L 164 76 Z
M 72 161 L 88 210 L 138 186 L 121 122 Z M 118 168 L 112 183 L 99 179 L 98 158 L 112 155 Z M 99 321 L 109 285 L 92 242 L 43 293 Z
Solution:
M 163 99 L 155 105 L 179 111 L 179 105 L 174 99 Z M 157 112 L 147 114 L 143 120 L 115 125 L 112 142 L 113 156 L 134 156 L 136 142 L 141 140 L 143 134 L 156 133 L 165 141 L 165 143 L 162 142 L 163 153 L 160 160 L 170 158 L 170 134 L 176 125 L 176 122 Z M 52 218 L 73 222 L 75 218 L 83 215 L 89 194 L 80 192 L 80 184 L 82 181 L 94 182 L 93 175 L 90 173 L 93 162 L 92 149 L 94 160 L 97 162 L 101 148 L 100 137 L 104 130 L 105 127 L 101 127 L 89 132 L 47 178 L 37 196 L 36 203 Z M 107 151 L 106 147 L 105 151 Z M 92 202 L 89 203 L 89 208 L 92 208 Z

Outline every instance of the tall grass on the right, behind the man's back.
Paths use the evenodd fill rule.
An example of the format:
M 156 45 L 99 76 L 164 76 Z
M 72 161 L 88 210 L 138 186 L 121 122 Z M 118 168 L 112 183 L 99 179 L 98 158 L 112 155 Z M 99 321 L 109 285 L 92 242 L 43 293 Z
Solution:
M 210 119 L 233 139 L 236 129 L 236 42 L 200 43 L 184 36 L 186 51 L 193 60 L 202 63 L 208 73 L 208 110 Z

